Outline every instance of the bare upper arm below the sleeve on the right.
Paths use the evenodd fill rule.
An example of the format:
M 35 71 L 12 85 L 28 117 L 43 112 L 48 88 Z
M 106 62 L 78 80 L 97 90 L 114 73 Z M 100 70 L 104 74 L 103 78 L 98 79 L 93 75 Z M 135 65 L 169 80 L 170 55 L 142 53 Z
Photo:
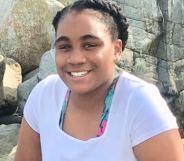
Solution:
M 184 150 L 177 129 L 154 136 L 133 149 L 138 161 L 184 161 Z

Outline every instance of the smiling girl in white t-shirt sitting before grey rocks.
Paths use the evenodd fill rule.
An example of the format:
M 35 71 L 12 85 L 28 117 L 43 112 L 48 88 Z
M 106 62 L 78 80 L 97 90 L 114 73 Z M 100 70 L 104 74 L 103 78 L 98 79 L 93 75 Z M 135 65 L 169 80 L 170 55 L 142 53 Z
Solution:
M 184 161 L 158 89 L 127 72 L 115 77 L 128 38 L 120 8 L 78 0 L 53 25 L 58 75 L 32 91 L 15 161 Z

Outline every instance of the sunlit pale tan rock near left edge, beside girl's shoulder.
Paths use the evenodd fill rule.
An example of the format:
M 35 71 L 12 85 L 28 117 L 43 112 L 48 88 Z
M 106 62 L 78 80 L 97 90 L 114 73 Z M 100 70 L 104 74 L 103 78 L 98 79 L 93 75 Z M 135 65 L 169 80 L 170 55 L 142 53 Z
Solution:
M 21 66 L 13 59 L 5 59 L 6 67 L 3 78 L 4 100 L 9 105 L 17 106 L 17 88 L 22 83 Z

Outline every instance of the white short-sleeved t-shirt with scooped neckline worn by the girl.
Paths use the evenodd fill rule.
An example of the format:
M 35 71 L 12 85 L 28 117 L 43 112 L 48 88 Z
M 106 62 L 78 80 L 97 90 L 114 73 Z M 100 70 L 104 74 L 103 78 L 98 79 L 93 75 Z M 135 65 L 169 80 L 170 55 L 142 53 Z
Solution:
M 82 141 L 60 129 L 67 87 L 58 75 L 31 92 L 24 117 L 40 134 L 43 161 L 136 161 L 132 147 L 177 128 L 158 89 L 127 72 L 116 84 L 107 127 L 102 136 Z

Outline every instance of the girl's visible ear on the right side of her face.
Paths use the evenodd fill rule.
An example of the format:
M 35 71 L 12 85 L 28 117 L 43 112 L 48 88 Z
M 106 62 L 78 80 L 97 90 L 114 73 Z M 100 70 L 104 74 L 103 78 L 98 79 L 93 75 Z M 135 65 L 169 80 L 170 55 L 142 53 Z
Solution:
M 122 54 L 122 49 L 124 44 L 122 43 L 122 41 L 120 39 L 117 39 L 114 41 L 114 61 L 117 62 Z

